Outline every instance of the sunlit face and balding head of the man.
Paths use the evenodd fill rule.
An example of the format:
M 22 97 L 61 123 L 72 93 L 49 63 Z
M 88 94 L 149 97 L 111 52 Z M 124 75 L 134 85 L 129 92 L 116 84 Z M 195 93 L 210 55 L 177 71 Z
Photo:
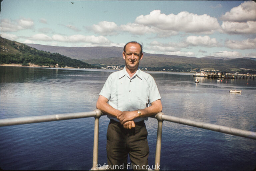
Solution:
M 143 53 L 140 54 L 140 45 L 137 43 L 129 43 L 126 45 L 125 51 L 123 52 L 123 58 L 125 60 L 125 66 L 128 69 L 137 69 L 139 62 L 143 57 Z

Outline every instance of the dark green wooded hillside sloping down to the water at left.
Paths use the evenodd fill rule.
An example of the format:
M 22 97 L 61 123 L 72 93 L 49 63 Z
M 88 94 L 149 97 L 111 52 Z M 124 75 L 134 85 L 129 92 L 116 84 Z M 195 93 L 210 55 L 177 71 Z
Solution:
M 77 59 L 63 56 L 59 53 L 50 53 L 37 50 L 23 43 L 0 38 L 0 64 L 22 64 L 29 66 L 29 63 L 39 66 L 74 67 L 74 68 L 99 68 L 97 66 L 82 62 Z

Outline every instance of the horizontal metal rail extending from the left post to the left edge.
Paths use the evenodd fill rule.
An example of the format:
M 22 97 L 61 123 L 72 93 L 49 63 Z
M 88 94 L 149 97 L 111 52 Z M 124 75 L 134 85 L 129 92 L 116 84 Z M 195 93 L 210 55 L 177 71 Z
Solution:
M 32 124 L 32 123 L 40 123 L 40 122 L 50 122 L 50 121 L 61 121 L 61 120 L 69 120 L 69 119 L 89 118 L 89 117 L 95 117 L 95 116 L 96 116 L 96 111 L 58 114 L 58 115 L 41 115 L 41 116 L 31 116 L 31 117 L 21 117 L 21 118 L 7 118 L 7 119 L 0 119 L 0 127 L 11 126 L 11 125 L 21 125 L 21 124 Z

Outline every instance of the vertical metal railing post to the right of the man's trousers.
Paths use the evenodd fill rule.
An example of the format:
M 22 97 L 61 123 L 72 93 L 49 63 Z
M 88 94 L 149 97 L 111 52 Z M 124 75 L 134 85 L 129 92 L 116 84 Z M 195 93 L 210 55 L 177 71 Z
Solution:
M 155 156 L 155 168 L 154 170 L 159 170 L 160 167 L 160 156 L 161 156 L 161 140 L 162 140 L 162 128 L 163 128 L 163 113 L 160 112 L 156 115 L 158 121 L 157 126 L 157 138 L 156 138 L 156 156 Z

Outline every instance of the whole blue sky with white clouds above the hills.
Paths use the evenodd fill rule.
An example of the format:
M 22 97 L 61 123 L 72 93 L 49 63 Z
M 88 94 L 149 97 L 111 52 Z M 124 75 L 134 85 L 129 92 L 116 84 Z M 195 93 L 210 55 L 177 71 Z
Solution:
M 0 20 L 1 37 L 21 43 L 256 58 L 253 1 L 3 0 Z

